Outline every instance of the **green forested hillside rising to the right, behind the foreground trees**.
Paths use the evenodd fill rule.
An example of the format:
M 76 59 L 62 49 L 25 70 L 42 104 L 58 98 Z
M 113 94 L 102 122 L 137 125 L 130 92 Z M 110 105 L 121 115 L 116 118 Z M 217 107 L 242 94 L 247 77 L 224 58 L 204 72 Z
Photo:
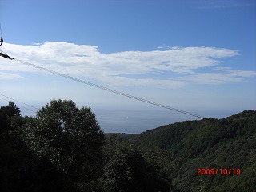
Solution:
M 157 147 L 174 155 L 173 162 L 166 162 L 166 166 L 172 167 L 173 185 L 179 190 L 256 189 L 255 110 L 219 120 L 176 122 L 127 138 L 142 148 Z M 200 168 L 209 170 L 198 175 Z

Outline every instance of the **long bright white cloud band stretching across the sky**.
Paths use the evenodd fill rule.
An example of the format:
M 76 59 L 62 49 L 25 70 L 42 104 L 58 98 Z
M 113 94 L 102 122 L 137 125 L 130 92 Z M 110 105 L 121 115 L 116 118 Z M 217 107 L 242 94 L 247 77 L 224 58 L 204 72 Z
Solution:
M 255 71 L 220 66 L 222 59 L 237 56 L 238 50 L 216 47 L 170 47 L 167 50 L 102 54 L 98 46 L 45 42 L 30 46 L 5 43 L 4 50 L 11 57 L 25 62 L 82 79 L 92 78 L 112 86 L 178 88 L 188 83 L 243 82 L 245 78 L 256 76 Z M 0 64 L 0 71 L 9 75 L 2 75 L 6 79 L 10 79 L 10 73 L 14 71 L 38 71 L 5 58 L 0 58 Z M 211 72 L 198 73 L 198 69 Z M 165 75 L 162 75 L 162 71 L 165 71 Z

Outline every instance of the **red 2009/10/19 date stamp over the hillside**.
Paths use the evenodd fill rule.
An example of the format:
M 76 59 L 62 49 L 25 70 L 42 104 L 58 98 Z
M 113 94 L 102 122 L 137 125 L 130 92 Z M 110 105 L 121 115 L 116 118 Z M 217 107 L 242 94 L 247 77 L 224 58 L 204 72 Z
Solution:
M 239 168 L 230 168 L 230 169 L 222 169 L 222 168 L 198 168 L 198 174 L 241 174 L 241 170 Z

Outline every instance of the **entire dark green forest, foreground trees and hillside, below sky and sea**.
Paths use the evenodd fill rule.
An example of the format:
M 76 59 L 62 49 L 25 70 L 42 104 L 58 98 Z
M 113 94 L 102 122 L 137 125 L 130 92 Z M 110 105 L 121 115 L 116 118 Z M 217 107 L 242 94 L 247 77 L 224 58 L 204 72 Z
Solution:
M 0 108 L 0 191 L 254 191 L 256 111 L 104 134 L 88 107 Z

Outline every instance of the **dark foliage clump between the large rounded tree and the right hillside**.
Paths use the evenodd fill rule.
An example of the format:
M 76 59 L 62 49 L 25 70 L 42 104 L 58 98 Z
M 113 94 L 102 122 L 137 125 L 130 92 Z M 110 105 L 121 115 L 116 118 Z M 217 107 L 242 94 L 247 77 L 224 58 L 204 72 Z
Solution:
M 139 149 L 118 134 L 109 134 L 103 148 L 107 191 L 177 191 L 162 161 L 172 160 L 166 151 Z M 162 160 L 160 160 L 162 159 Z M 171 169 L 170 169 L 171 170 Z

